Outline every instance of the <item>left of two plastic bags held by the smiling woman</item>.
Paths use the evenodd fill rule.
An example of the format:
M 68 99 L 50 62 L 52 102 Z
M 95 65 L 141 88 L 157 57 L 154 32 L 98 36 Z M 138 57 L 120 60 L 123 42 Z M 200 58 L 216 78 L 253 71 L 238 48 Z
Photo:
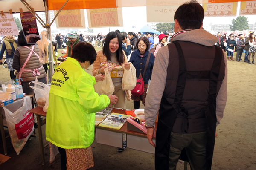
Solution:
M 99 93 L 101 93 L 102 95 L 113 95 L 115 91 L 115 86 L 111 79 L 108 68 L 105 68 L 104 72 L 105 72 L 105 79 L 102 81 L 102 85 L 99 88 Z

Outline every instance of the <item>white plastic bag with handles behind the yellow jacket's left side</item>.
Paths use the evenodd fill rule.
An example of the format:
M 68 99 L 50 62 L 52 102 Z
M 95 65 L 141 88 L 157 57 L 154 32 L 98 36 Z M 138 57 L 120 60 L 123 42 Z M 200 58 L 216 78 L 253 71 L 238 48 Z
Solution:
M 34 86 L 31 86 L 30 84 L 34 84 Z M 29 82 L 29 87 L 34 89 L 35 93 L 35 100 L 39 107 L 43 107 L 44 112 L 47 112 L 48 106 L 49 106 L 49 91 L 50 87 L 42 82 L 31 81 Z

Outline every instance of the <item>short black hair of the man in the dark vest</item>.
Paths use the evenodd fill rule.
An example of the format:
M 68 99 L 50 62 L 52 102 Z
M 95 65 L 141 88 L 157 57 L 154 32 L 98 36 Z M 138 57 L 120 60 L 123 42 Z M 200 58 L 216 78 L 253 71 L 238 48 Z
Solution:
M 200 29 L 204 20 L 204 9 L 195 0 L 179 6 L 174 14 L 174 20 L 179 22 L 181 29 Z

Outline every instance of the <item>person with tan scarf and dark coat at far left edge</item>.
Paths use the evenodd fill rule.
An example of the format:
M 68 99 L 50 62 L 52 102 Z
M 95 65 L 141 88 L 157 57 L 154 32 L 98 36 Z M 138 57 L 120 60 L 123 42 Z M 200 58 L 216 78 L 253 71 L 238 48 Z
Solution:
M 12 68 L 13 54 L 17 47 L 17 40 L 15 40 L 12 35 L 6 35 L 6 37 L 3 39 L 2 49 L 0 51 L 0 63 L 3 63 L 3 53 L 6 52 L 8 71 L 10 71 L 10 77 L 13 80 L 15 80 L 14 69 Z

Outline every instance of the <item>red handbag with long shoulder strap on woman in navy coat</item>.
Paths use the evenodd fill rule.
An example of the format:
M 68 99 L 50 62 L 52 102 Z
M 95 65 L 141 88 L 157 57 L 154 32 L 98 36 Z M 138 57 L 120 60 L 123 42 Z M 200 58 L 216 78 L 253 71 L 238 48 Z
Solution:
M 134 87 L 134 89 L 131 90 L 131 95 L 133 95 L 133 96 L 140 96 L 144 92 L 144 80 L 143 80 L 143 78 L 144 78 L 144 75 L 146 73 L 146 69 L 148 67 L 148 62 L 149 62 L 150 54 L 151 53 L 149 52 L 148 53 L 147 63 L 145 65 L 142 78 L 137 78 L 136 86 Z

